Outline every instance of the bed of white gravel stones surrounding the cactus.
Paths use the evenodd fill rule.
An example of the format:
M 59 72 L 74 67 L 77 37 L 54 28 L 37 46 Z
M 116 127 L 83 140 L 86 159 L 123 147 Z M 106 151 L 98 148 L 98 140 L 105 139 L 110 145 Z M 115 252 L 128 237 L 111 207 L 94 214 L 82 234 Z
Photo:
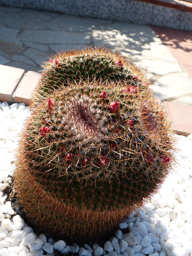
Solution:
M 63 255 L 79 256 L 189 256 L 192 255 L 192 134 L 178 136 L 180 152 L 176 170 L 144 209 L 133 212 L 119 224 L 104 248 L 94 244 L 69 246 L 63 240 L 53 241 L 45 234 L 34 234 L 24 220 L 12 216 L 4 189 L 14 176 L 14 150 L 18 132 L 29 114 L 23 103 L 0 102 L 0 256 Z M 124 228 L 130 232 L 124 234 Z

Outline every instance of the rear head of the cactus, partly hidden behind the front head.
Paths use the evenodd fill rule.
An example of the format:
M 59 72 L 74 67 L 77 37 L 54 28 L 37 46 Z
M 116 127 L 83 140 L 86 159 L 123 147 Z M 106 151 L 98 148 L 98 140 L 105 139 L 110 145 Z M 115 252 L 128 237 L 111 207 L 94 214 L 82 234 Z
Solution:
M 122 58 L 118 52 L 114 54 L 103 47 L 90 47 L 81 50 L 60 52 L 49 62 L 45 62 L 42 78 L 31 99 L 32 108 L 42 102 L 47 94 L 58 90 L 61 84 L 80 80 L 127 81 L 143 90 L 148 87 L 144 74 Z

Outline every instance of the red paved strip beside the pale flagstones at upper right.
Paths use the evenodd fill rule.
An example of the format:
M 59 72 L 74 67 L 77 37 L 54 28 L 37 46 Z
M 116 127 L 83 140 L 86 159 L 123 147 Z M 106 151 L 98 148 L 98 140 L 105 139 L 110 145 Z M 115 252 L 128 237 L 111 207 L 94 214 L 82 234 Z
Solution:
M 192 32 L 160 26 L 151 26 L 186 72 L 192 76 Z

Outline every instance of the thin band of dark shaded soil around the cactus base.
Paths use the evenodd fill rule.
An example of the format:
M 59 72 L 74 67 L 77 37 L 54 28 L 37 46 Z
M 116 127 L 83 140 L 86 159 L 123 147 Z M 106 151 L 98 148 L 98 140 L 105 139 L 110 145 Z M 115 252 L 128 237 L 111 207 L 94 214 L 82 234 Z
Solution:
M 6 201 L 11 202 L 11 206 L 15 211 L 14 216 L 16 214 L 20 215 L 24 219 L 25 223 L 28 224 L 28 226 L 30 226 L 33 229 L 33 231 L 36 235 L 39 236 L 40 234 L 44 233 L 47 236 L 47 238 L 52 238 L 55 242 L 58 241 L 58 240 L 64 240 L 66 242 L 66 244 L 68 244 L 70 246 L 72 244 L 76 243 L 75 240 L 72 240 L 69 237 L 66 237 L 64 235 L 58 234 L 58 236 L 57 235 L 52 236 L 51 234 L 48 234 L 48 232 L 46 232 L 46 230 L 43 230 L 43 229 L 37 227 L 33 222 L 31 222 L 31 220 L 26 216 L 23 209 L 18 204 L 18 197 L 17 197 L 17 195 L 14 191 L 14 178 L 10 181 L 10 185 L 6 189 L 4 189 L 4 193 L 8 195 Z M 94 241 L 91 241 L 91 242 L 85 241 L 84 243 L 79 243 L 78 242 L 78 246 L 81 247 L 81 246 L 84 246 L 84 244 L 89 244 L 90 246 L 92 246 L 94 243 L 97 243 L 99 246 L 104 247 L 104 243 L 106 241 L 108 241 L 114 235 L 114 232 L 118 228 L 119 227 L 117 226 L 116 228 L 114 228 L 114 230 L 112 230 L 111 232 L 108 232 L 102 238 L 102 241 L 101 240 L 94 240 Z M 122 229 L 122 232 L 123 232 L 123 234 L 126 234 L 130 231 L 129 231 L 129 228 L 125 228 L 125 229 Z M 55 249 L 54 249 L 54 254 L 55 254 L 55 256 L 63 255 L 58 250 L 55 250 Z M 73 254 L 72 252 L 70 252 L 68 254 L 68 256 L 71 256 L 71 255 L 77 256 L 78 253 Z

